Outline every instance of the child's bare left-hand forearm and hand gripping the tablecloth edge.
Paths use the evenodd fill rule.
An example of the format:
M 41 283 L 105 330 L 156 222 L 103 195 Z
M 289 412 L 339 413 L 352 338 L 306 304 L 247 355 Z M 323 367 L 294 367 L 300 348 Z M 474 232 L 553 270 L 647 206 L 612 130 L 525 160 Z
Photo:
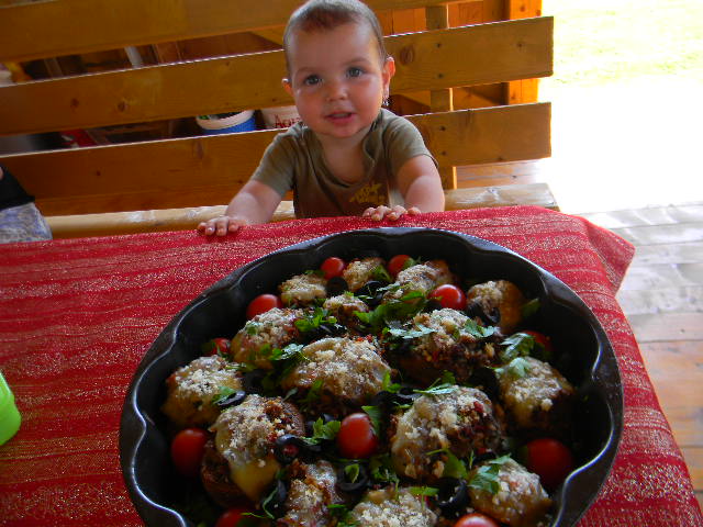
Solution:
M 198 225 L 198 232 L 224 236 L 244 225 L 266 223 L 280 202 L 280 194 L 268 184 L 249 180 L 232 199 L 224 215 L 202 222 Z

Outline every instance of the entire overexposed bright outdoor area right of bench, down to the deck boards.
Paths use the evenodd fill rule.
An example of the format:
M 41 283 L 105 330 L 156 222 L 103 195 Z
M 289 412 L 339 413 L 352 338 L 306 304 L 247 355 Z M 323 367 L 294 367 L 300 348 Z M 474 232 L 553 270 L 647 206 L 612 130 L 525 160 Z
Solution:
M 561 210 L 703 202 L 703 0 L 543 0 L 555 16 L 551 158 Z

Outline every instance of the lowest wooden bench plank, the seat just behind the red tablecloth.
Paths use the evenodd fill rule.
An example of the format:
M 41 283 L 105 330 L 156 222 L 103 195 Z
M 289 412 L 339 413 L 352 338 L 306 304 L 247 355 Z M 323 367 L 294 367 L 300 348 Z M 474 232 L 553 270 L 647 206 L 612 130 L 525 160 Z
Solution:
M 446 192 L 446 210 L 481 206 L 536 205 L 558 210 L 545 183 L 476 187 Z M 168 209 L 104 214 L 48 216 L 54 238 L 77 238 L 156 231 L 194 229 L 200 222 L 223 214 L 225 205 Z M 293 220 L 292 201 L 282 201 L 271 221 Z

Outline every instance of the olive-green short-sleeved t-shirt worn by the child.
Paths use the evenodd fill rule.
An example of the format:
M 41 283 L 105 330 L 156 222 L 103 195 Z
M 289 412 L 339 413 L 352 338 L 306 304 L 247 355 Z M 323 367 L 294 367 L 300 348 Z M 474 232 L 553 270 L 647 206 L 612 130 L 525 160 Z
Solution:
M 369 206 L 390 203 L 394 176 L 405 161 L 421 155 L 434 160 L 417 128 L 383 109 L 364 138 L 362 150 L 364 178 L 342 181 L 325 165 L 312 130 L 297 123 L 276 136 L 252 179 L 281 197 L 292 190 L 298 217 L 359 215 Z

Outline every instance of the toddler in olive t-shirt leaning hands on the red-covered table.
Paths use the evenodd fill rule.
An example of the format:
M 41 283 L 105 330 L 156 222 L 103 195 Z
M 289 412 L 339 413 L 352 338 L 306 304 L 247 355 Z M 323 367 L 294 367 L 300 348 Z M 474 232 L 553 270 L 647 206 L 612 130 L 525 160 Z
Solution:
M 279 134 L 225 214 L 203 234 L 266 223 L 293 191 L 298 217 L 380 221 L 444 210 L 436 161 L 408 120 L 382 109 L 395 72 L 373 12 L 358 0 L 311 0 L 283 35 L 283 88 L 301 122 Z M 404 205 L 392 205 L 392 195 Z

